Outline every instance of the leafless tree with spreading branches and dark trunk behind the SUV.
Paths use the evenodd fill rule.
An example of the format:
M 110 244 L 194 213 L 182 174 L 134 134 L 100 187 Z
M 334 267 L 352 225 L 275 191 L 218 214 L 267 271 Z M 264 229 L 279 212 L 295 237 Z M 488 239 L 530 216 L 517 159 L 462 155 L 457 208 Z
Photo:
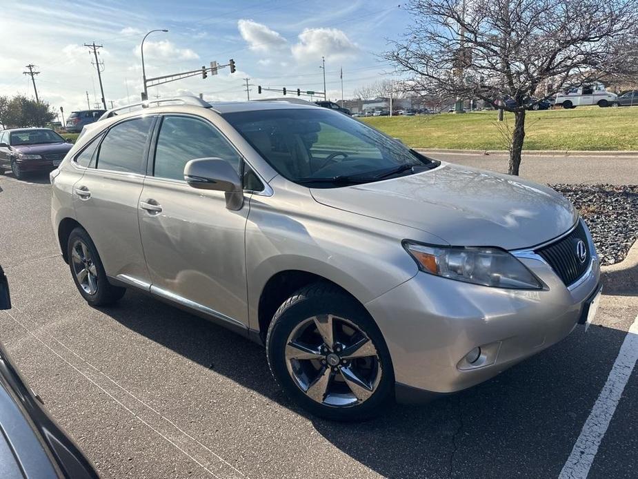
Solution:
M 635 70 L 638 0 L 412 0 L 408 10 L 414 22 L 383 57 L 415 90 L 514 113 L 511 175 L 519 174 L 526 110 Z

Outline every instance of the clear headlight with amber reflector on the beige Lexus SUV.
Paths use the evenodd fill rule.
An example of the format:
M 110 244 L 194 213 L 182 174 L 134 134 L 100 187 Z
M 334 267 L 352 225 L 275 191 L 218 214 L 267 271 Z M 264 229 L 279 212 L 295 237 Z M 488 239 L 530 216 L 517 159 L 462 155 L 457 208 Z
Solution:
M 526 266 L 499 248 L 426 246 L 404 242 L 419 269 L 432 275 L 484 286 L 542 289 Z

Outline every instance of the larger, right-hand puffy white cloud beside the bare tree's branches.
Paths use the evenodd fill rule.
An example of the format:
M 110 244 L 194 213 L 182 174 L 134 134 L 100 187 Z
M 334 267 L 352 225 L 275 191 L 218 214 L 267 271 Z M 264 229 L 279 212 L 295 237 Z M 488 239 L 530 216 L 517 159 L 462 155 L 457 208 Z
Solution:
M 306 28 L 299 34 L 299 42 L 292 46 L 292 56 L 299 62 L 352 57 L 359 48 L 337 28 Z

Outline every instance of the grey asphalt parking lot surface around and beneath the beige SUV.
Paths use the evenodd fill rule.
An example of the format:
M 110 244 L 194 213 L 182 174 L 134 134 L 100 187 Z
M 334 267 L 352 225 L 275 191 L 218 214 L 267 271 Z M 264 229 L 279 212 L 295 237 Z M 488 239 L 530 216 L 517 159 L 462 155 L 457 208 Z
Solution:
M 326 422 L 286 400 L 263 349 L 238 335 L 132 291 L 87 306 L 57 255 L 50 186 L 32 183 L 0 177 L 14 303 L 0 311 L 0 340 L 105 478 L 558 477 L 572 451 L 591 453 L 575 444 L 592 411 L 611 420 L 581 466 L 590 478 L 638 475 L 637 371 L 617 404 L 599 400 L 632 338 L 637 296 L 604 295 L 589 331 L 478 387 L 361 424 Z

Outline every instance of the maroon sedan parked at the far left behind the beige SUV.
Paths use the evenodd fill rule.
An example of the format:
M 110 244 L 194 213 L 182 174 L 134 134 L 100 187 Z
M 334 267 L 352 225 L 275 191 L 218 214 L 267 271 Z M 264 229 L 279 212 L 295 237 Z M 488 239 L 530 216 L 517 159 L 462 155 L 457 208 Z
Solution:
M 14 177 L 57 168 L 72 145 L 49 128 L 0 131 L 0 174 L 11 168 Z

